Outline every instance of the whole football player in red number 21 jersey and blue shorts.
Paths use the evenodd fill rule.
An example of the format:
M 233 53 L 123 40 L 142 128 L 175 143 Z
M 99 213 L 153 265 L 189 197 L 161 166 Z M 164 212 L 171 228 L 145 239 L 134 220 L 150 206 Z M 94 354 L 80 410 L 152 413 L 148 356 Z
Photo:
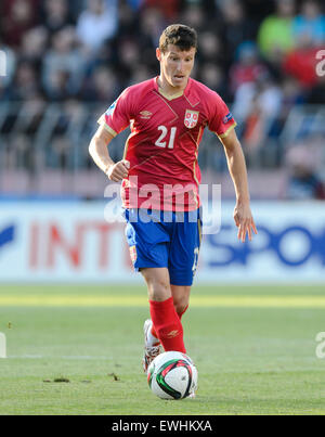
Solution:
M 219 94 L 190 77 L 196 50 L 194 29 L 167 27 L 156 49 L 160 75 L 127 88 L 99 119 L 89 146 L 108 179 L 122 181 L 131 259 L 148 291 L 145 371 L 160 346 L 186 352 L 181 318 L 188 307 L 200 246 L 197 154 L 206 127 L 224 146 L 236 193 L 238 239 L 245 242 L 257 233 L 236 123 Z M 107 145 L 129 126 L 123 158 L 115 163 Z

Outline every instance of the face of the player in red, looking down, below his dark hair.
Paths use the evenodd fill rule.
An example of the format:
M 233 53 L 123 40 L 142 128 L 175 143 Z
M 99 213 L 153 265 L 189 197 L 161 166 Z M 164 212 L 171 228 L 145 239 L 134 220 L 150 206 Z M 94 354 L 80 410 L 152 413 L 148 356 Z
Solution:
M 157 49 L 162 83 L 179 90 L 184 89 L 194 65 L 195 52 L 194 47 L 182 51 L 173 44 L 168 44 L 165 53 Z

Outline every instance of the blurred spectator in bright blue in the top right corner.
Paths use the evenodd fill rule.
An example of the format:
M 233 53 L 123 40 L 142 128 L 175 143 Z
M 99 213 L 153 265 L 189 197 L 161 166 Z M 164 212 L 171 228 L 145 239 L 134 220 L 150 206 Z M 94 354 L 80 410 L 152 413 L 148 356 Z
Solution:
M 325 43 L 325 16 L 315 0 L 306 0 L 301 7 L 301 14 L 294 18 L 292 31 L 295 40 L 308 36 L 313 46 Z

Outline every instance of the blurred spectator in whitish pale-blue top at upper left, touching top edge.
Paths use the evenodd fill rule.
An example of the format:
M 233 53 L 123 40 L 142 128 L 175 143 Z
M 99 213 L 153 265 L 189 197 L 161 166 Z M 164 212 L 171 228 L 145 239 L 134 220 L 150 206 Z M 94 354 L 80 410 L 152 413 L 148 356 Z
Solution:
M 117 0 L 88 0 L 88 8 L 77 23 L 77 35 L 88 51 L 98 51 L 117 31 Z

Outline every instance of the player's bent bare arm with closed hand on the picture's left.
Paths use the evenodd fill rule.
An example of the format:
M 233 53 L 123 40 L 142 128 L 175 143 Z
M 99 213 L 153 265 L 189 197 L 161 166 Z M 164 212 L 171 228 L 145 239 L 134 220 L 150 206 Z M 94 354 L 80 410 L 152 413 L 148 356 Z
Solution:
M 109 180 L 119 182 L 128 177 L 130 163 L 126 159 L 114 163 L 108 152 L 108 144 L 113 138 L 105 125 L 101 124 L 90 141 L 89 153 Z

